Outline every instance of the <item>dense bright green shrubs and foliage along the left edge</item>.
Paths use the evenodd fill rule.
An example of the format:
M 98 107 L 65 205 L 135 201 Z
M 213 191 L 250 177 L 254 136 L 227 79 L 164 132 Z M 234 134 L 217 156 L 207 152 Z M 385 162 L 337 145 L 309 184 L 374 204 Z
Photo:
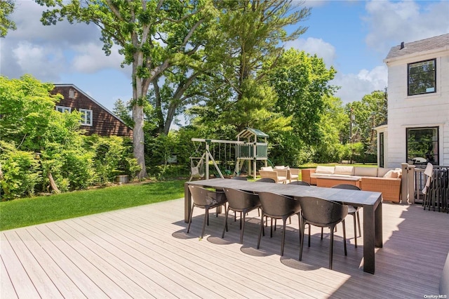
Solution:
M 57 112 L 52 90 L 31 76 L 0 77 L 2 199 L 80 190 L 140 171 L 130 140 L 83 135 L 79 112 Z

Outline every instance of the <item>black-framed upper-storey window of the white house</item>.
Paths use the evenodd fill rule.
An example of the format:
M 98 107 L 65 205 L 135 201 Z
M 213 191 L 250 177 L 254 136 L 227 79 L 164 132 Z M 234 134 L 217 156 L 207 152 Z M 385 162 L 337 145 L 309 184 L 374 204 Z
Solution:
M 408 64 L 408 95 L 436 92 L 436 60 Z

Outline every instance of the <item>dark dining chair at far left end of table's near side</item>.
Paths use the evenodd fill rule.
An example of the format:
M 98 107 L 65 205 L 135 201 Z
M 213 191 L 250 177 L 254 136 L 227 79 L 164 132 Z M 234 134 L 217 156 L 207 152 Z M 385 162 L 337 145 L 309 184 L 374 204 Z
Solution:
M 225 192 L 222 191 L 210 191 L 203 187 L 189 185 L 189 191 L 192 194 L 193 204 L 192 211 L 190 211 L 189 225 L 187 226 L 187 234 L 192 224 L 192 215 L 194 213 L 194 207 L 204 208 L 204 220 L 203 230 L 201 230 L 201 239 L 204 236 L 204 230 L 206 229 L 206 223 L 209 225 L 209 210 L 210 208 L 217 208 L 219 206 L 226 206 L 227 199 Z M 218 213 L 217 213 L 218 217 Z

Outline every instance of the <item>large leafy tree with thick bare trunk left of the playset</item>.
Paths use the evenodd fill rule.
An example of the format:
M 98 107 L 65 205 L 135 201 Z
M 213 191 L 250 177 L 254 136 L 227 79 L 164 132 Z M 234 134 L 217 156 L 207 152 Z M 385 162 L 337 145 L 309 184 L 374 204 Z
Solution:
M 123 63 L 132 65 L 133 148 L 142 167 L 139 177 L 147 176 L 144 147 L 144 102 L 152 82 L 167 69 L 184 65 L 201 44 L 194 34 L 207 27 L 212 17 L 209 0 L 36 0 L 51 7 L 43 13 L 44 25 L 67 18 L 69 22 L 93 22 L 100 27 L 103 50 L 111 53 L 120 46 Z

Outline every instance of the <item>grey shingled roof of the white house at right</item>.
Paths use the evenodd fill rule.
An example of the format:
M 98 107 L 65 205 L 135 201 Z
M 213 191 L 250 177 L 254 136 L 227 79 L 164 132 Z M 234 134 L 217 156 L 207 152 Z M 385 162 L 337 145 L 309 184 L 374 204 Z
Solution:
M 387 58 L 385 58 L 384 61 L 387 62 L 388 60 L 404 55 L 432 51 L 440 48 L 449 49 L 449 33 L 406 44 L 402 42 L 401 45 L 394 46 L 390 49 Z

